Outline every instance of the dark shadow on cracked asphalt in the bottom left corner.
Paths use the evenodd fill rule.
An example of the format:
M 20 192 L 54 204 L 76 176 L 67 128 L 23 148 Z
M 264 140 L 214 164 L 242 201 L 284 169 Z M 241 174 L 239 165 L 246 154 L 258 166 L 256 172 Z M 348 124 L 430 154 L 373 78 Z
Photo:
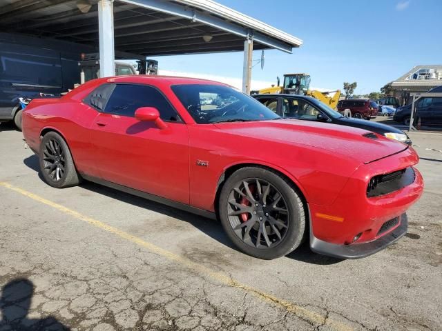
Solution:
M 34 290 L 34 284 L 26 278 L 13 279 L 3 286 L 0 297 L 0 330 L 70 330 L 55 317 L 28 318 Z

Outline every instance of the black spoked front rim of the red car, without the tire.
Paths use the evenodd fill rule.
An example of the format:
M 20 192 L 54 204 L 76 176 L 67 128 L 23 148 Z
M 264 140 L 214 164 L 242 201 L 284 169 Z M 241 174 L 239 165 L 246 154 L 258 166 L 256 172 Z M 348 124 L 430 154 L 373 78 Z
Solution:
M 228 215 L 236 236 L 255 248 L 273 248 L 287 234 L 289 212 L 282 194 L 271 183 L 244 179 L 229 194 Z

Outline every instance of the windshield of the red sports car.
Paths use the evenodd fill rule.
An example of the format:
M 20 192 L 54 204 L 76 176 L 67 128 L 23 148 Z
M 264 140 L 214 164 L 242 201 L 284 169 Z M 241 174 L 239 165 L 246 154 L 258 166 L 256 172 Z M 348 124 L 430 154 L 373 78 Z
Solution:
M 280 119 L 259 101 L 228 86 L 189 84 L 171 88 L 199 124 Z

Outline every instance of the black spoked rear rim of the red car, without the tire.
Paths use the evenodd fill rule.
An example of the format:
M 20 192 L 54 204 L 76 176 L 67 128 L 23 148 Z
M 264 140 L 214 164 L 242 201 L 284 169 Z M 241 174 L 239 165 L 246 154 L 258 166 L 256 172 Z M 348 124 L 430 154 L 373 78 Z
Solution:
M 44 145 L 43 153 L 44 171 L 49 177 L 52 177 L 52 180 L 61 181 L 66 172 L 66 160 L 58 141 L 49 139 Z

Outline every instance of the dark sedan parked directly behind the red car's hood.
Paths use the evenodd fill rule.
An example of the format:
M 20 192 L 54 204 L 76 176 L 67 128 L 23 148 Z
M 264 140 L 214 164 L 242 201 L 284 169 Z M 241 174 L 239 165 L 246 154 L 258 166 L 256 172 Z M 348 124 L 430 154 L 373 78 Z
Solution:
M 402 130 L 383 123 L 345 117 L 325 105 L 325 103 L 311 97 L 295 94 L 255 94 L 252 97 L 283 118 L 352 126 L 376 132 L 409 145 L 412 143 L 411 139 Z

